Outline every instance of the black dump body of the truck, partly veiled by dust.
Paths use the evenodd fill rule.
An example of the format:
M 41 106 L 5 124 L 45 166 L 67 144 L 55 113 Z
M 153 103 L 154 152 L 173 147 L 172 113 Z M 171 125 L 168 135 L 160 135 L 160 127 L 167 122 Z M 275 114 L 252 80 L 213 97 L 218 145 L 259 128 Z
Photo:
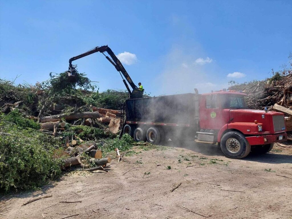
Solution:
M 199 96 L 186 93 L 129 99 L 126 101 L 126 121 L 197 126 Z

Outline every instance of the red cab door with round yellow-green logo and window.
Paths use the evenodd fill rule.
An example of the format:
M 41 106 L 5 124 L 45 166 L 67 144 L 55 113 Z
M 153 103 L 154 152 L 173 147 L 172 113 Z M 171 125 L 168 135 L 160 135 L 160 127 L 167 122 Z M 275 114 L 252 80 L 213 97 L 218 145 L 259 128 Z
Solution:
M 203 95 L 200 104 L 200 126 L 202 129 L 220 129 L 221 109 L 218 95 Z

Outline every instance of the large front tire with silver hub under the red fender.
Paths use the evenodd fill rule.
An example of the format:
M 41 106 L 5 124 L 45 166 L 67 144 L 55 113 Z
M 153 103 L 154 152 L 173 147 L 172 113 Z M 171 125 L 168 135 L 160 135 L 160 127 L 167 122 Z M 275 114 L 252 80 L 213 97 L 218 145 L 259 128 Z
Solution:
M 244 135 L 236 131 L 225 133 L 221 138 L 220 146 L 226 157 L 233 159 L 244 158 L 251 151 L 251 145 Z

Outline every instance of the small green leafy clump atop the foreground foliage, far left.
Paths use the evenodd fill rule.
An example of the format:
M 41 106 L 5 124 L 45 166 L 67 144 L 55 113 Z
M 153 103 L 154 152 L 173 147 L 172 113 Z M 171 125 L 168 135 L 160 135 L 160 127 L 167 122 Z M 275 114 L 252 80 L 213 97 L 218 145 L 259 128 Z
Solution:
M 26 119 L 18 112 L 18 109 L 8 113 L 5 117 L 6 121 L 12 122 L 20 128 L 33 128 L 39 129 L 40 125 L 32 119 Z

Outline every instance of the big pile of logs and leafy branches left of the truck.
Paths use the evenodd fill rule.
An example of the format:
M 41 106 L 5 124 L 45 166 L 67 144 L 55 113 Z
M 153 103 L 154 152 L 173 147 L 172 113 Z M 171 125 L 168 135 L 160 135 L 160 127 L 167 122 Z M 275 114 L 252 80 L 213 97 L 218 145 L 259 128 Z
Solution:
M 126 91 L 94 91 L 84 74 L 75 82 L 66 72 L 50 76 L 34 86 L 0 79 L 0 165 L 7 168 L 0 190 L 39 186 L 61 170 L 107 171 L 115 148 L 133 146 L 128 135 L 116 138 Z M 24 178 L 31 174 L 37 178 Z

